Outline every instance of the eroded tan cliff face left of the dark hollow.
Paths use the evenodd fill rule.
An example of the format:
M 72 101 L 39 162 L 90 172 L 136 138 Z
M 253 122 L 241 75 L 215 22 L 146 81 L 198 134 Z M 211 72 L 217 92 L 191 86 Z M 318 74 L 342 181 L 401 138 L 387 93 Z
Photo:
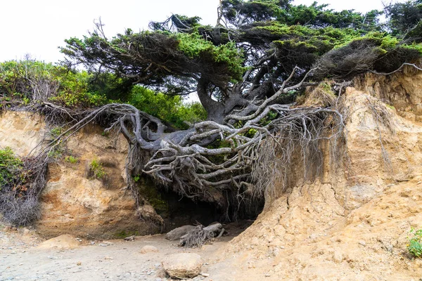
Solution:
M 39 115 L 4 112 L 0 118 L 0 146 L 11 147 L 23 157 L 48 138 L 48 131 Z M 108 238 L 160 231 L 139 218 L 140 211 L 156 215 L 154 208 L 145 204 L 136 210 L 132 192 L 127 190 L 127 142 L 122 136 L 103 136 L 100 127 L 89 126 L 72 136 L 63 149 L 77 162 L 66 161 L 63 155 L 49 164 L 48 182 L 40 197 L 41 219 L 35 224 L 39 234 Z M 94 159 L 107 173 L 101 180 L 87 176 Z

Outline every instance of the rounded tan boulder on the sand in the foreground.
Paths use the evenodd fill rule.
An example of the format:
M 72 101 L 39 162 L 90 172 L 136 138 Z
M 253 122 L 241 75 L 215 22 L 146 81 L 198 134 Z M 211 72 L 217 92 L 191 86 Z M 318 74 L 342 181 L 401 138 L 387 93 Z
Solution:
M 162 262 L 162 268 L 170 277 L 196 277 L 202 268 L 203 261 L 198 254 L 181 253 L 167 256 Z

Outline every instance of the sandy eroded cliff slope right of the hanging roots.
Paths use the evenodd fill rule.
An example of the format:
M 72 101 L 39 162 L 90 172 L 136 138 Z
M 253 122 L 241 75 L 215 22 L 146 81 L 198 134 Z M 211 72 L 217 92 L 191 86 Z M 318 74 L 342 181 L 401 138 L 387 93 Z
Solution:
M 406 250 L 411 227 L 422 227 L 421 75 L 366 74 L 348 88 L 343 167 L 334 170 L 325 159 L 317 181 L 298 181 L 269 198 L 224 259 L 248 280 L 421 277 L 421 263 Z M 374 112 L 377 106 L 385 114 Z

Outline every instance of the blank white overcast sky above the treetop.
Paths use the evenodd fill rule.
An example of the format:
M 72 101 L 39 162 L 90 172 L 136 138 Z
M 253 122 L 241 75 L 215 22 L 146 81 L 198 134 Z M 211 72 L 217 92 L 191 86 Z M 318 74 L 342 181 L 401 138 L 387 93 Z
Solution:
M 314 0 L 296 0 L 312 4 Z M 382 9 L 381 0 L 321 0 L 335 10 L 366 12 Z M 101 17 L 108 37 L 125 28 L 143 30 L 151 20 L 165 20 L 172 13 L 198 15 L 203 23 L 215 25 L 219 0 L 8 0 L 1 1 L 0 61 L 23 58 L 25 54 L 46 62 L 62 58 L 58 46 L 64 39 L 82 37 L 93 30 Z

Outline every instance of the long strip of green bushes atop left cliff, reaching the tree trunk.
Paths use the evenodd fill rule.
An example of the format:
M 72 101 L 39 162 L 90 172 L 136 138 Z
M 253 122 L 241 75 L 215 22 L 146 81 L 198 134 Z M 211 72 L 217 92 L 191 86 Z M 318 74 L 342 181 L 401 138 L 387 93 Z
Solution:
M 51 91 L 44 98 L 65 107 L 87 108 L 113 102 L 130 103 L 179 129 L 187 128 L 185 121 L 195 123 L 207 118 L 200 103 L 184 104 L 180 96 L 166 96 L 139 85 L 134 86 L 130 79 L 109 72 L 94 75 L 87 71 L 68 70 L 60 65 L 36 60 L 0 63 L 0 100 L 18 100 L 24 105 L 36 103 L 39 96 L 34 96 L 37 86 L 34 81 L 49 84 Z M 60 128 L 51 130 L 54 137 L 60 133 Z

